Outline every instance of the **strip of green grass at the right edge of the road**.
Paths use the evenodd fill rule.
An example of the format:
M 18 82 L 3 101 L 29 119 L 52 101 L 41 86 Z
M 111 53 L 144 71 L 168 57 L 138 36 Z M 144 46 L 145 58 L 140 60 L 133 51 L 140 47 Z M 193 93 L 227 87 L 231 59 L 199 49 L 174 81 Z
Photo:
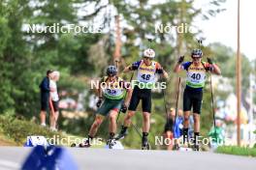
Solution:
M 216 153 L 236 155 L 236 156 L 256 156 L 256 148 L 245 148 L 237 146 L 218 147 Z

